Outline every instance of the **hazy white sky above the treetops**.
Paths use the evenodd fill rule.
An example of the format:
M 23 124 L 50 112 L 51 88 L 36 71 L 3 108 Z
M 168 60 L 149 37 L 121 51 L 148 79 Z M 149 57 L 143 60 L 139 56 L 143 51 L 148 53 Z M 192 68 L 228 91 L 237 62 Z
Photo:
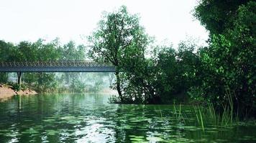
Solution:
M 188 36 L 208 38 L 191 14 L 196 0 L 0 0 L 0 39 L 18 43 L 59 37 L 63 44 L 85 44 L 81 37 L 96 29 L 102 11 L 122 5 L 140 14 L 142 26 L 158 42 L 168 39 L 177 45 Z

